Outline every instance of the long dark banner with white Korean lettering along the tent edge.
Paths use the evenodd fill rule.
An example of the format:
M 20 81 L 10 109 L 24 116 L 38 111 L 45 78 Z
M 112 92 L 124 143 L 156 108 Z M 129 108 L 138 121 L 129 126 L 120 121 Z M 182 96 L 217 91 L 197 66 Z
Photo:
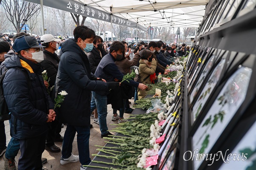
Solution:
M 26 0 L 26 1 L 40 4 L 40 0 Z M 111 17 L 110 17 L 111 14 L 90 6 L 84 6 L 84 4 L 74 0 L 61 0 L 61 1 L 43 0 L 43 5 L 111 23 Z M 136 22 L 126 20 L 124 18 L 117 17 L 115 15 L 113 15 L 112 17 L 112 23 L 118 24 L 121 26 L 137 28 Z M 147 28 L 139 24 L 138 24 L 138 29 L 142 31 L 147 31 Z

